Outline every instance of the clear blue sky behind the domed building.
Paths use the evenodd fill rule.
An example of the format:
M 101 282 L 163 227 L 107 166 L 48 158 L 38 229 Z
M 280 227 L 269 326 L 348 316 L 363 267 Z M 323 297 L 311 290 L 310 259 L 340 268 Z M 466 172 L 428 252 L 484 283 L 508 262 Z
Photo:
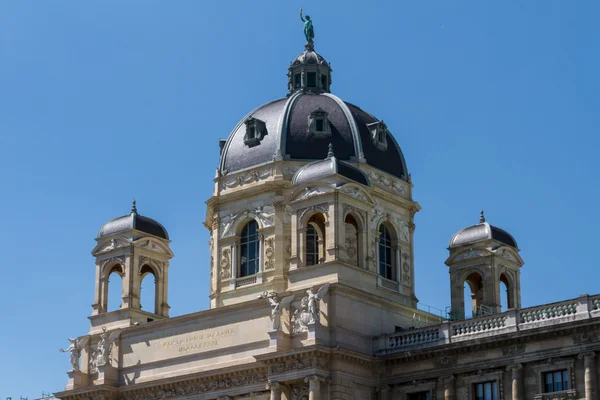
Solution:
M 285 95 L 299 7 L 332 91 L 402 146 L 422 302 L 449 304 L 446 246 L 481 208 L 520 245 L 524 306 L 600 292 L 597 1 L 4 1 L 0 399 L 64 388 L 94 237 L 134 197 L 173 240 L 172 315 L 208 307 L 218 139 Z

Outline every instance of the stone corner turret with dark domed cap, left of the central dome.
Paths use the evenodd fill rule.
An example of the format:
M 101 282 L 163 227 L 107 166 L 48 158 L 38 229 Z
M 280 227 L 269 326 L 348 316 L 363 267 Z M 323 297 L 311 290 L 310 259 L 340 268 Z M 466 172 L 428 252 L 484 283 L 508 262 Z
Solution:
M 167 230 L 138 213 L 135 200 L 128 215 L 107 222 L 98 232 L 96 285 L 90 333 L 169 317 L 168 268 L 173 253 Z M 142 308 L 142 281 L 154 276 L 154 304 Z M 120 285 L 120 307 L 109 309 L 109 285 Z

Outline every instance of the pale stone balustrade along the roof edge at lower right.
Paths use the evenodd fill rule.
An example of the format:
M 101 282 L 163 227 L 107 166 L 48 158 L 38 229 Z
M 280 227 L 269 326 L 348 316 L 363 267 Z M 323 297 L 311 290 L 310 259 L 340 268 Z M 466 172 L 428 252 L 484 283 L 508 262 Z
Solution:
M 600 318 L 600 294 L 381 335 L 374 338 L 373 351 L 375 355 L 412 351 L 592 318 Z

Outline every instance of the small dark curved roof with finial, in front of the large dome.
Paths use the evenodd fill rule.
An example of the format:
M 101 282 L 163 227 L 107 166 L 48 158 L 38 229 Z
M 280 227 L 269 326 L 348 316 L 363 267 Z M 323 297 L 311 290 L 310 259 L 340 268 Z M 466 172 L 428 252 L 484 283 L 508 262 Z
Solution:
M 324 178 L 331 175 L 341 175 L 355 182 L 369 185 L 369 178 L 360 169 L 340 161 L 333 155 L 332 146 L 329 145 L 329 154 L 325 160 L 315 161 L 300 168 L 292 178 L 292 184 L 308 182 L 313 179 Z

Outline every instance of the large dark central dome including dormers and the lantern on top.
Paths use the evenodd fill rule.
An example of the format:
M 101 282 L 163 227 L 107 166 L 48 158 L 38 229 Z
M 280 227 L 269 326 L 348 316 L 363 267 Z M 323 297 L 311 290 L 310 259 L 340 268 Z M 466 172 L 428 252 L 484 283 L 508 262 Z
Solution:
M 222 175 L 273 161 L 315 161 L 333 145 L 339 160 L 406 180 L 400 146 L 383 121 L 329 93 L 331 68 L 311 43 L 290 64 L 290 93 L 246 115 L 222 146 Z

